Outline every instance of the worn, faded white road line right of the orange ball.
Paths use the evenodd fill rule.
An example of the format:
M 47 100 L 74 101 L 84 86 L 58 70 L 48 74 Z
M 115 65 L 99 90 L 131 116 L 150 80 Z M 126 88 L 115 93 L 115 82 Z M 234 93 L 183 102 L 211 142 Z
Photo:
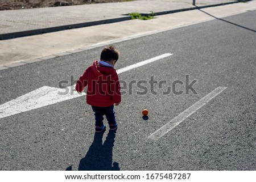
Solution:
M 205 104 L 208 103 L 208 101 L 210 101 L 213 98 L 215 98 L 218 94 L 220 94 L 226 88 L 227 87 L 217 87 L 215 90 L 213 90 L 209 94 L 205 95 L 202 99 L 197 101 L 191 107 L 189 107 L 185 111 L 181 112 L 178 116 L 173 118 L 170 122 L 168 122 L 167 124 L 163 125 L 161 128 L 156 130 L 154 133 L 150 134 L 150 136 L 148 136 L 148 138 L 157 141 L 159 138 L 163 137 L 164 134 L 170 132 L 177 125 L 179 125 L 182 121 L 184 121 L 186 118 L 191 116 L 194 112 L 196 112 L 198 109 L 203 107 Z

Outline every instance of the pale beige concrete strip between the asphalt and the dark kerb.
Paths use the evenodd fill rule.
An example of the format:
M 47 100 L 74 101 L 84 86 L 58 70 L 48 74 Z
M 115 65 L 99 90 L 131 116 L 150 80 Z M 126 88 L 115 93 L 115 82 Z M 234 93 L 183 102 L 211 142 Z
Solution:
M 209 20 L 221 20 L 226 16 L 254 10 L 256 10 L 256 1 L 233 3 L 225 6 L 208 7 L 203 11 L 191 10 L 156 16 L 155 19 L 146 21 L 129 20 L 1 40 L 0 70 L 137 39 L 142 36 L 154 35 L 155 33 Z M 232 22 L 229 24 L 234 28 L 243 28 L 255 32 L 255 30 L 250 30 L 250 27 L 242 27 L 232 24 Z

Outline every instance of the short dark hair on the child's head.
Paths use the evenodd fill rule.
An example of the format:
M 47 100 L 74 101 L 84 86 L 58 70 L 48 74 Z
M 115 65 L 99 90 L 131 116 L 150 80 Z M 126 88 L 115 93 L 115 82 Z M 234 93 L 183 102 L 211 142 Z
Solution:
M 114 45 L 108 45 L 103 48 L 101 52 L 101 60 L 110 61 L 110 60 L 118 60 L 119 51 L 115 48 Z

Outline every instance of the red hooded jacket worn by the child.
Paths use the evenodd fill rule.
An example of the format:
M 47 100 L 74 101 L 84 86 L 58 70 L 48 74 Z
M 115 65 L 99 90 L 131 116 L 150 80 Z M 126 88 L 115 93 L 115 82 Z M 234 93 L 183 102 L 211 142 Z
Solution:
M 120 83 L 117 71 L 94 61 L 77 80 L 76 91 L 88 86 L 86 103 L 96 107 L 109 107 L 121 102 Z

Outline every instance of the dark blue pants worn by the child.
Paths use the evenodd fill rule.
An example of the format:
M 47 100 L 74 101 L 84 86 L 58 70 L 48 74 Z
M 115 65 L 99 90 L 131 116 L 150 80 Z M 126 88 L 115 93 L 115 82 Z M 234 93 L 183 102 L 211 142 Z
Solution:
M 114 112 L 114 105 L 111 105 L 109 107 L 95 107 L 92 106 L 94 115 L 95 115 L 95 125 L 96 126 L 102 126 L 104 115 L 106 116 L 106 119 L 108 120 L 109 124 L 115 124 L 115 112 Z

